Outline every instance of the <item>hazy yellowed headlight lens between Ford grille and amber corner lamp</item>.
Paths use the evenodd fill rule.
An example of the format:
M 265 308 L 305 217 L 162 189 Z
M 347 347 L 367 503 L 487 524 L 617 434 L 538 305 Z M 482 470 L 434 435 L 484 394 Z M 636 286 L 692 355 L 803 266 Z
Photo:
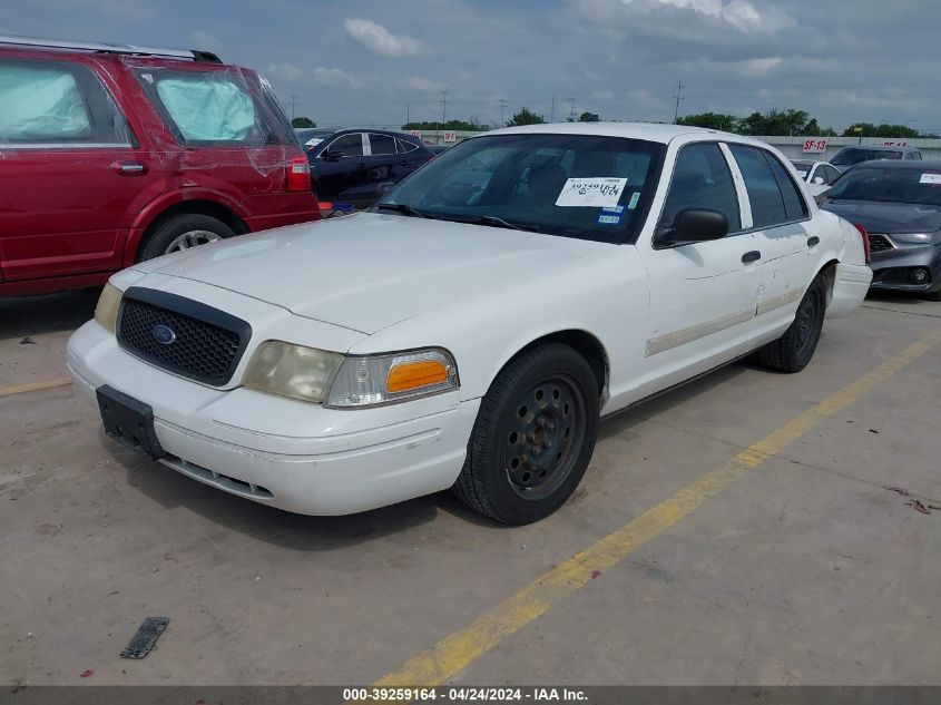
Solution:
M 248 361 L 242 383 L 259 392 L 322 402 L 342 362 L 339 353 L 266 341 Z

